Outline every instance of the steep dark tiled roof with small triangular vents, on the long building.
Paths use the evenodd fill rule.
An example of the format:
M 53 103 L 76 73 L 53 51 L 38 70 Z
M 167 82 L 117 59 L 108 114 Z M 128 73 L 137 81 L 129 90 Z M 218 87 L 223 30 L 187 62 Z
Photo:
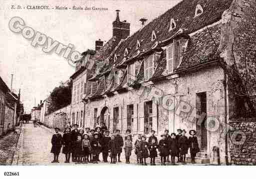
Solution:
M 123 64 L 133 56 L 140 58 L 141 54 L 151 51 L 156 42 L 161 44 L 164 40 L 169 39 L 177 34 L 179 29 L 184 30 L 184 34 L 188 35 L 196 32 L 189 38 L 188 46 L 184 52 L 182 63 L 178 70 L 186 69 L 190 66 L 201 64 L 207 60 L 216 59 L 216 51 L 220 42 L 220 24 L 209 27 L 209 29 L 200 30 L 208 25 L 211 25 L 222 18 L 223 12 L 231 6 L 233 0 L 183 0 L 173 8 L 166 11 L 153 21 L 149 22 L 142 29 L 135 32 L 133 35 L 123 40 L 115 52 L 108 51 L 101 59 L 109 59 L 109 64 L 104 65 L 98 74 L 98 78 L 108 71 L 113 66 Z M 195 17 L 197 4 L 203 7 L 203 13 Z M 170 21 L 174 19 L 176 28 L 169 31 Z M 152 31 L 156 33 L 156 39 L 151 40 Z M 209 30 L 211 31 L 209 33 Z M 140 42 L 139 49 L 137 40 Z M 128 49 L 128 54 L 124 56 L 125 49 Z M 113 49 L 113 48 L 112 48 Z M 114 62 L 114 54 L 117 55 L 117 60 Z M 144 79 L 144 64 L 140 68 L 137 81 Z M 159 59 L 155 61 L 155 73 L 153 78 L 161 77 L 166 69 L 166 52 L 162 52 Z M 120 86 L 119 86 L 120 88 Z

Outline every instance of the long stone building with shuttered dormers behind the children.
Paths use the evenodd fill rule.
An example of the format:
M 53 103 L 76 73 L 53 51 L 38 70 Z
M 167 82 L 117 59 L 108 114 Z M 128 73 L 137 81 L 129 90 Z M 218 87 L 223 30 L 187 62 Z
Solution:
M 253 109 L 250 100 L 236 95 L 231 69 L 245 67 L 235 42 L 248 32 L 241 28 L 247 19 L 255 20 L 248 13 L 254 7 L 253 0 L 183 0 L 132 35 L 117 10 L 113 37 L 90 55 L 100 67 L 88 68 L 80 60 L 71 77 L 72 124 L 94 128 L 105 123 L 111 133 L 130 129 L 149 135 L 155 130 L 158 136 L 165 129 L 195 129 L 199 158 L 214 162 L 217 147 L 221 163 L 233 160 L 228 135 L 221 134 L 248 106 Z M 76 78 L 82 80 L 76 83 Z

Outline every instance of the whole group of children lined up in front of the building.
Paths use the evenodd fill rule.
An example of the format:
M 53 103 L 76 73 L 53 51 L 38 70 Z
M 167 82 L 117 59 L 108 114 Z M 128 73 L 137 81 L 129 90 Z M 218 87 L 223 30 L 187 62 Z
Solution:
M 178 134 L 165 130 L 161 135 L 161 140 L 158 142 L 155 136 L 155 131 L 152 130 L 151 136 L 148 138 L 144 135 L 138 135 L 134 145 L 132 142 L 132 135 L 130 130 L 126 130 L 126 136 L 123 140 L 120 135 L 120 130 L 116 130 L 115 134 L 109 136 L 109 131 L 103 127 L 94 129 L 85 128 L 85 131 L 78 129 L 78 125 L 73 125 L 74 129 L 71 131 L 70 127 L 66 127 L 63 136 L 59 134 L 59 129 L 55 128 L 56 134 L 52 136 L 51 153 L 54 155 L 52 163 L 58 163 L 58 156 L 62 148 L 62 153 L 65 154 L 65 163 L 94 163 L 99 162 L 99 155 L 102 153 L 103 162 L 115 164 L 120 161 L 120 155 L 124 148 L 126 164 L 130 164 L 130 156 L 132 150 L 135 148 L 137 156 L 137 163 L 147 165 L 147 158 L 150 158 L 150 164 L 156 165 L 155 160 L 158 157 L 158 152 L 161 158 L 161 165 L 166 165 L 171 156 L 171 163 L 175 165 L 175 157 L 178 157 L 178 162 L 185 164 L 186 154 L 190 148 L 192 163 L 195 163 L 196 153 L 199 152 L 198 141 L 195 130 L 190 130 L 190 137 L 186 137 L 186 131 L 178 129 Z M 134 146 L 134 147 L 133 147 Z

